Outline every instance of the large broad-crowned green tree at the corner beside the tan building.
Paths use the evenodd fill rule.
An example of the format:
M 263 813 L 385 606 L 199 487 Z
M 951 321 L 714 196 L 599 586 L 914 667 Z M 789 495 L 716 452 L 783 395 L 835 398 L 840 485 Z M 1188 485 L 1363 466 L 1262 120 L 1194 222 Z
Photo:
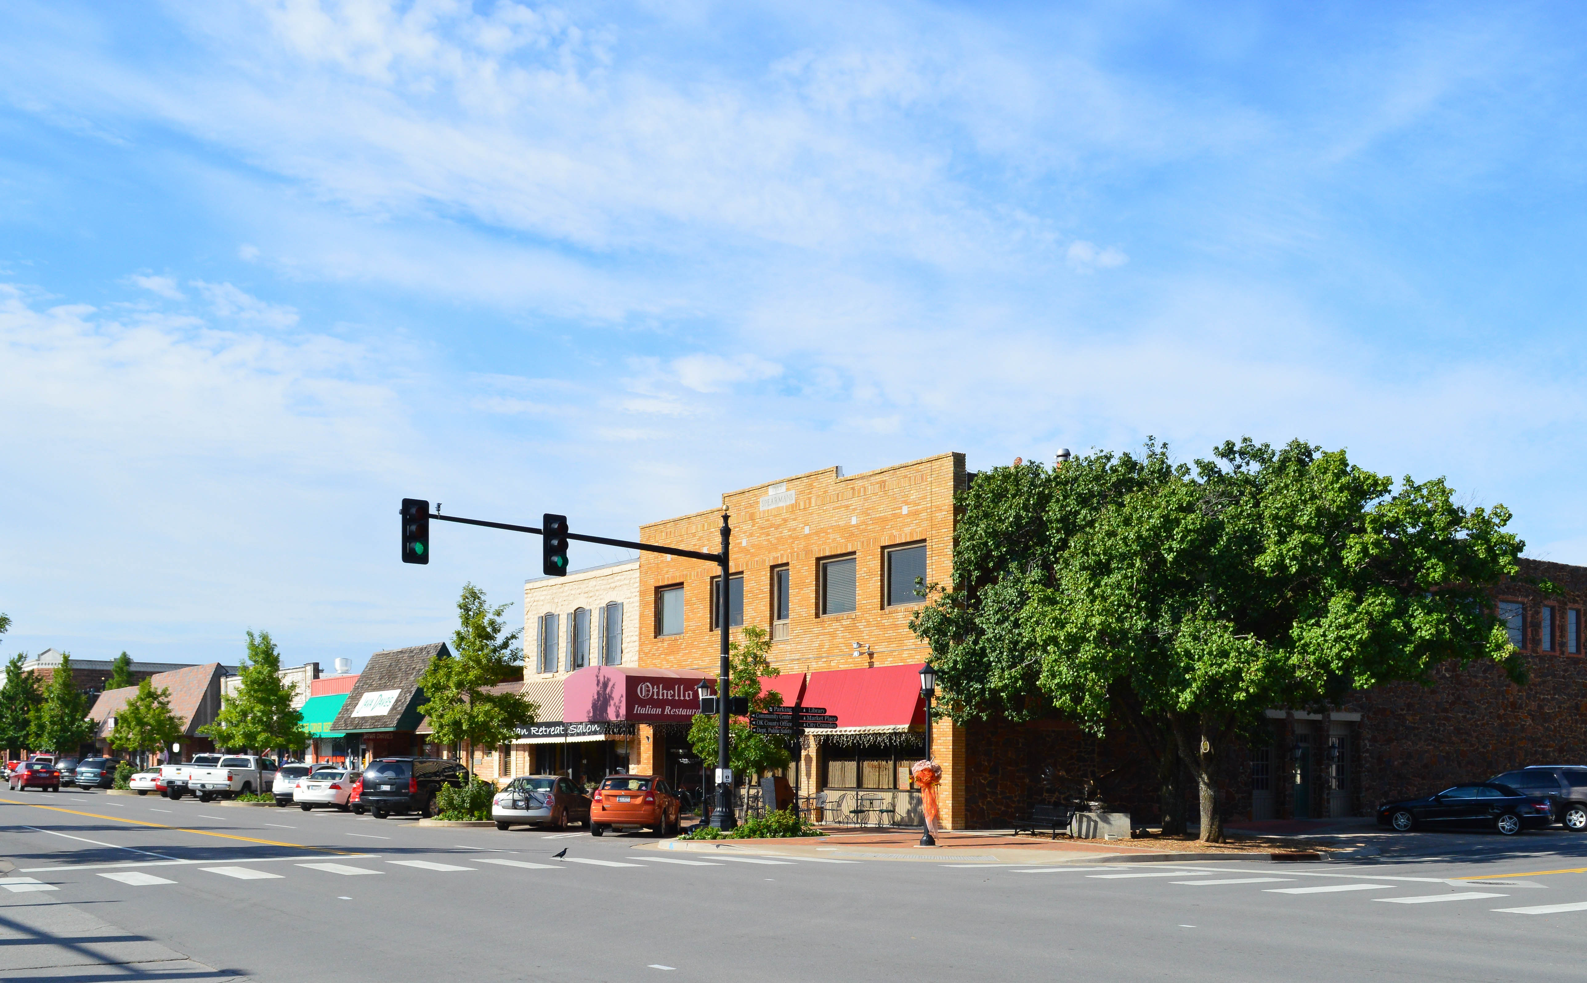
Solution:
M 1524 544 L 1503 506 L 1462 507 L 1441 479 L 1395 487 L 1343 450 L 1246 439 L 1193 465 L 1149 442 L 1025 480 L 1044 495 L 1019 496 L 1027 561 L 965 569 L 917 620 L 949 707 L 1057 709 L 1093 732 L 1138 713 L 1189 767 L 1205 840 L 1224 836 L 1225 752 L 1263 710 L 1427 683 L 1444 661 L 1525 677 L 1489 595 Z

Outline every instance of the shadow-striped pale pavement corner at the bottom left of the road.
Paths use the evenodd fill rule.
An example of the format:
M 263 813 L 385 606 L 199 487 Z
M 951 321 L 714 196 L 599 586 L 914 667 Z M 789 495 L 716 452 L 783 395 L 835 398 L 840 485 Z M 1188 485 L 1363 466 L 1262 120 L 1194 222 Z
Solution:
M 0 980 L 81 978 L 83 967 L 94 966 L 119 967 L 117 975 L 140 978 L 206 983 L 246 978 L 189 959 L 73 905 L 32 894 L 0 896 Z

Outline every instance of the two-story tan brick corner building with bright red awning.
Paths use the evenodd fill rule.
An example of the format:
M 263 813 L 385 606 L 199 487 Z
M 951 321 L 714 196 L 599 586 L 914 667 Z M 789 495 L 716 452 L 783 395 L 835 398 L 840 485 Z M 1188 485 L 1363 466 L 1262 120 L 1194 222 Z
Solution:
M 730 625 L 771 633 L 771 660 L 784 674 L 774 688 L 786 702 L 805 687 L 811 688 L 806 706 L 820 706 L 817 696 L 852 701 L 827 706 L 840 717 L 838 731 L 806 739 L 800 794 L 830 790 L 832 801 L 844 796 L 844 809 L 886 799 L 898 821 L 917 813 L 919 794 L 906 771 L 922 750 L 917 677 L 846 671 L 925 661 L 927 647 L 909 631 L 924 601 L 916 583 L 949 579 L 954 493 L 966 487 L 963 455 L 943 453 L 852 476 L 841 468 L 811 471 L 728 492 L 720 507 L 641 526 L 641 542 L 716 552 L 725 511 L 733 530 Z M 717 566 L 659 553 L 643 553 L 638 566 L 640 666 L 714 674 Z M 870 694 L 862 693 L 867 687 Z M 890 709 L 876 710 L 882 706 Z M 676 766 L 690 755 L 686 729 L 640 726 L 635 771 L 655 769 L 687 785 L 686 769 Z M 944 769 L 944 826 L 963 828 L 963 731 L 938 721 L 932 752 Z

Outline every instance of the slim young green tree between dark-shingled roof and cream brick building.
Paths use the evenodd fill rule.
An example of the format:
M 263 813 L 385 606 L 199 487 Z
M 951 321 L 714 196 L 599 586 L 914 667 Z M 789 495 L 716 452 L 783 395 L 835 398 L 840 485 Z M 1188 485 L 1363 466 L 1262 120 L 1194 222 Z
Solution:
M 503 634 L 501 614 L 508 607 L 490 607 L 482 590 L 463 585 L 457 599 L 459 626 L 452 633 L 455 655 L 443 648 L 419 677 L 427 698 L 419 709 L 428 715 L 436 742 L 495 747 L 535 723 L 538 704 L 521 693 L 489 691 L 497 683 L 522 679 L 519 633 Z

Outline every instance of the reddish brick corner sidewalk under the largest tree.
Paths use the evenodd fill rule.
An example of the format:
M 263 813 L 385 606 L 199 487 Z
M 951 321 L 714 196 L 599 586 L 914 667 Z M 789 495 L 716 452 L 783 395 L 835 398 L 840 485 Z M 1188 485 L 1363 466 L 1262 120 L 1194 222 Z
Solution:
M 1106 864 L 1106 863 L 1203 863 L 1214 859 L 1322 859 L 1319 855 L 1274 853 L 1271 845 L 1225 843 L 1201 850 L 1182 843 L 1141 840 L 1057 840 L 1013 836 L 1013 831 L 943 832 L 936 847 L 920 847 L 920 831 L 843 831 L 824 837 L 765 840 L 662 840 L 636 850 L 684 853 L 752 853 L 801 859 L 889 859 L 935 864 Z

